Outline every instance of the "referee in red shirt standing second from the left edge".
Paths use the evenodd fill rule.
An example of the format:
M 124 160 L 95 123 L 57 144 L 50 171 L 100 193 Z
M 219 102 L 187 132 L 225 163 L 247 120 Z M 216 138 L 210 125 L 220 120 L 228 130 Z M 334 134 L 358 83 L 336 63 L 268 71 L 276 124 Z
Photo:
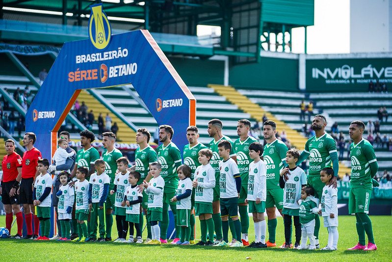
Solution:
M 33 205 L 33 184 L 35 177 L 39 175 L 37 161 L 42 158 L 41 152 L 34 147 L 36 136 L 34 133 L 27 132 L 23 137 L 23 146 L 26 152 L 22 158 L 22 180 L 19 188 L 19 200 L 23 204 L 23 213 L 25 214 L 27 235 L 24 239 L 36 239 L 39 236 L 39 220 L 34 215 L 34 234 L 33 234 L 33 214 L 35 210 Z

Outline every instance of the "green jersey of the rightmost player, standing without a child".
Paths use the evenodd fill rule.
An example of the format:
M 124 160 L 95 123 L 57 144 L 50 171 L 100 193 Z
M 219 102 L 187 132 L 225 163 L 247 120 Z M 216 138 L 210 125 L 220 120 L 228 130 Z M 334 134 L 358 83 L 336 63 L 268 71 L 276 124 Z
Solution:
M 352 143 L 350 145 L 350 156 L 350 187 L 372 189 L 369 165 L 377 161 L 373 146 L 366 139 L 362 139 L 357 145 Z

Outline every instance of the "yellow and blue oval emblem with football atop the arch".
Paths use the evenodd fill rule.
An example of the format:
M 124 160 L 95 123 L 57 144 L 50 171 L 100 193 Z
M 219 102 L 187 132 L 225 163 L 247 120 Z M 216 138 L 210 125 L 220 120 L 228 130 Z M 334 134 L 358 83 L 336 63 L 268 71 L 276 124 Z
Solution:
M 102 3 L 91 5 L 90 19 L 88 21 L 88 35 L 90 41 L 97 49 L 104 49 L 110 42 L 111 28 Z

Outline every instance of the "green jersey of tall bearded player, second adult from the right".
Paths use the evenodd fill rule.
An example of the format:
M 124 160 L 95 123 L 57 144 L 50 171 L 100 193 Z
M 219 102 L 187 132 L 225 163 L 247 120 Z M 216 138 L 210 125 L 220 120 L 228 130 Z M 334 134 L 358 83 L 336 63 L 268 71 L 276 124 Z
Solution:
M 309 176 L 320 176 L 323 168 L 331 167 L 330 154 L 338 152 L 335 139 L 327 133 L 319 138 L 311 137 L 306 142 L 304 151 L 309 154 Z

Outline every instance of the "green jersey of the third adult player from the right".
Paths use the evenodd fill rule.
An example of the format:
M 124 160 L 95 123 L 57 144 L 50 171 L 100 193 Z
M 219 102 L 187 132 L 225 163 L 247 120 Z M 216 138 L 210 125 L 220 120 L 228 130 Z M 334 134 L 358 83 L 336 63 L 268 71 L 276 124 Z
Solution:
M 262 157 L 267 168 L 267 189 L 277 189 L 279 177 L 286 164 L 287 146 L 279 139 L 264 146 Z

